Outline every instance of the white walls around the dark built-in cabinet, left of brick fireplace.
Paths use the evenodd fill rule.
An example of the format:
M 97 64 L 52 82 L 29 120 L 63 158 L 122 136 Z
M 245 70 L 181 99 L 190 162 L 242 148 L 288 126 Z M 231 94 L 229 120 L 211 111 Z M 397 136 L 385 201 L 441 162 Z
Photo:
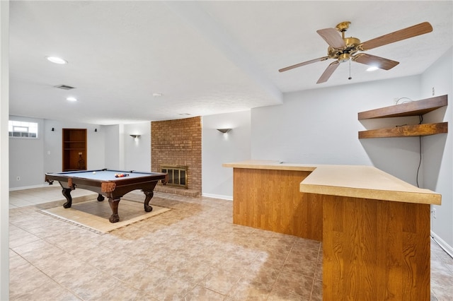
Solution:
M 10 190 L 40 187 L 45 184 L 45 172 L 62 171 L 62 129 L 87 130 L 88 170 L 151 171 L 150 122 L 102 126 L 18 116 L 9 118 L 40 124 L 38 139 L 9 138 Z M 132 132 L 142 135 L 137 143 L 129 136 Z M 21 180 L 17 181 L 17 177 Z

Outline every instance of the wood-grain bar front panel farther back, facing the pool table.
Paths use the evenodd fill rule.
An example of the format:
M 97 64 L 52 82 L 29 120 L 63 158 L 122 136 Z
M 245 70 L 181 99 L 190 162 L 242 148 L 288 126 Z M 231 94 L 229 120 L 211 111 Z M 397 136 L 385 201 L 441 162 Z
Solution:
M 233 223 L 322 240 L 322 201 L 303 194 L 310 172 L 234 168 Z

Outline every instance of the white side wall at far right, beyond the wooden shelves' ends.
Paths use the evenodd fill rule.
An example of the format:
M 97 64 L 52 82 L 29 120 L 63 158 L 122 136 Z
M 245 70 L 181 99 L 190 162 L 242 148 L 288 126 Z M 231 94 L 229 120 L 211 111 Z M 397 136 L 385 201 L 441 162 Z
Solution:
M 421 88 L 423 98 L 448 95 L 449 105 L 425 115 L 425 122 L 448 122 L 449 134 L 423 137 L 424 184 L 428 189 L 442 194 L 442 205 L 431 206 L 436 218 L 431 218 L 435 238 L 453 254 L 453 49 L 442 56 L 423 73 Z

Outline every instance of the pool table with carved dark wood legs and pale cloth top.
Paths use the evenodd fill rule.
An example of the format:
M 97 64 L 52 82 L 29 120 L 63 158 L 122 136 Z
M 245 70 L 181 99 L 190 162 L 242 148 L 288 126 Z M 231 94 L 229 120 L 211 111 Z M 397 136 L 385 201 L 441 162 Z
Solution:
M 87 189 L 98 193 L 98 201 L 103 201 L 104 196 L 112 209 L 110 223 L 120 220 L 118 216 L 118 204 L 122 196 L 135 189 L 142 189 L 145 194 L 144 211 L 153 210 L 149 201 L 154 195 L 154 187 L 159 180 L 166 184 L 168 175 L 162 172 L 136 172 L 124 170 L 82 170 L 73 172 L 48 172 L 45 174 L 45 181 L 52 184 L 58 181 L 62 186 L 62 194 L 67 199 L 64 208 L 72 205 L 71 191 Z

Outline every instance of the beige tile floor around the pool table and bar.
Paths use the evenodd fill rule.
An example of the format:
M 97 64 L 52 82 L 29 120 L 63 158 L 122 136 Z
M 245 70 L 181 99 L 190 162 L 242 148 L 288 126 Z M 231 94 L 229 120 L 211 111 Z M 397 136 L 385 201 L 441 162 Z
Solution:
M 233 225 L 231 201 L 156 193 L 171 211 L 103 234 L 41 213 L 61 199 L 11 191 L 10 300 L 322 299 L 321 243 Z M 452 300 L 453 259 L 431 250 L 431 300 Z

